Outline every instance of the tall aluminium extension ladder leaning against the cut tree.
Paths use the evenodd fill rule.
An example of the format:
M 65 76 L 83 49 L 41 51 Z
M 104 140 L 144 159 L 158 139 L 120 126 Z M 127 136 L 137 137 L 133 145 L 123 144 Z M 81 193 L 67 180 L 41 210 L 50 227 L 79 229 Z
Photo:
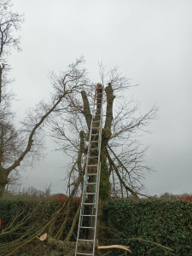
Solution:
M 101 172 L 103 87 L 96 89 L 90 124 L 90 139 L 84 172 L 75 256 L 95 255 L 96 222 Z M 84 246 L 82 247 L 82 244 Z

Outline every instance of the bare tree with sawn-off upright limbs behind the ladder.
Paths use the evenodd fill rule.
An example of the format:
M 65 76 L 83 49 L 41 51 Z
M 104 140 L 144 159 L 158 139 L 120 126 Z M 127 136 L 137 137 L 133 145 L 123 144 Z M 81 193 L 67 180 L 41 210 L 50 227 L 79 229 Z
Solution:
M 149 166 L 144 165 L 143 148 L 138 135 L 156 117 L 157 109 L 140 113 L 139 104 L 128 100 L 129 80 L 114 67 L 108 73 L 100 65 L 102 84 L 105 87 L 104 125 L 102 128 L 100 198 L 131 195 L 138 197 L 143 187 L 143 177 Z M 95 86 L 90 83 L 81 94 L 70 95 L 68 108 L 58 108 L 51 119 L 52 137 L 60 149 L 72 158 L 68 169 L 68 187 L 72 180 L 84 174 L 87 153 L 91 103 Z

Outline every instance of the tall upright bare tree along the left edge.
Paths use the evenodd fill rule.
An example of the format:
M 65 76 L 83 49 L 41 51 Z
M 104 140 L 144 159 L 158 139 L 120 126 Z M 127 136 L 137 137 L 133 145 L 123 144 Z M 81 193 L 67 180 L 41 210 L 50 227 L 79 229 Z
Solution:
M 9 0 L 0 0 L 0 197 L 2 189 L 8 183 L 4 168 L 20 152 L 20 142 L 17 140 L 18 131 L 13 119 L 15 113 L 11 109 L 13 94 L 9 90 L 9 63 L 7 57 L 12 48 L 20 49 L 20 38 L 16 37 L 23 17 L 11 10 Z

